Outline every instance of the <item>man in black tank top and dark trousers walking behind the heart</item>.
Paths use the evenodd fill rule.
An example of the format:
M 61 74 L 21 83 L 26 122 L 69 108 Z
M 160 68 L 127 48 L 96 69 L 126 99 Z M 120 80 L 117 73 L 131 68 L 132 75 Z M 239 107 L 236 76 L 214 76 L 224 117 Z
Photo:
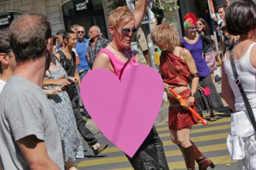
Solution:
M 99 144 L 94 134 L 86 127 L 86 120 L 82 117 L 79 110 L 79 96 L 76 85 L 80 86 L 80 77 L 75 65 L 75 52 L 72 48 L 75 48 L 77 43 L 77 35 L 72 31 L 65 31 L 63 34 L 64 48 L 57 52 L 58 60 L 67 72 L 68 80 L 71 82 L 67 93 L 71 99 L 73 112 L 75 114 L 75 121 L 77 123 L 77 129 L 82 134 L 84 140 L 88 142 L 88 146 L 94 151 L 94 155 L 101 153 L 108 145 Z

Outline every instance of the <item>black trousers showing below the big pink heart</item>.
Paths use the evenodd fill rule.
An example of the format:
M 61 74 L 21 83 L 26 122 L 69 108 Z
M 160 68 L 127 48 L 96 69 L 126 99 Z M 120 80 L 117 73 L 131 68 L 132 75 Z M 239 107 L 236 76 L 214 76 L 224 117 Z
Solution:
M 155 126 L 150 130 L 147 138 L 141 144 L 135 155 L 126 155 L 135 170 L 168 170 L 168 163 L 164 154 L 162 141 Z

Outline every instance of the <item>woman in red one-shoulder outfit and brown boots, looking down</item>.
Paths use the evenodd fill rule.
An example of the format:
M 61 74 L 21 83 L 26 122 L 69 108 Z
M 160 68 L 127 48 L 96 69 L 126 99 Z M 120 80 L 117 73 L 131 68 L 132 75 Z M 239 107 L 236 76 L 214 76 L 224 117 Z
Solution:
M 195 169 L 195 161 L 199 165 L 199 169 L 207 169 L 207 167 L 214 168 L 214 163 L 204 157 L 197 146 L 189 140 L 191 127 L 197 124 L 197 118 L 187 110 L 191 106 L 195 110 L 195 93 L 199 81 L 197 69 L 193 57 L 189 50 L 179 46 L 179 36 L 176 30 L 168 24 L 161 24 L 151 33 L 151 38 L 162 50 L 160 56 L 159 71 L 164 79 L 164 88 L 168 94 L 170 101 L 169 108 L 169 129 L 172 142 L 178 144 L 187 169 Z M 179 74 L 177 76 L 174 70 Z M 188 81 L 181 77 L 192 77 L 191 90 L 188 88 Z M 169 88 L 172 88 L 183 99 L 186 99 L 185 105 L 180 105 Z

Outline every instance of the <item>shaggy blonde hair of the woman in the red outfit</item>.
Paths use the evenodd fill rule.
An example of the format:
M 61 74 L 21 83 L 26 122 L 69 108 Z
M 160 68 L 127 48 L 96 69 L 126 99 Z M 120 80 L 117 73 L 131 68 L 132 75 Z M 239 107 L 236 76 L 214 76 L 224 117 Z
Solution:
M 151 39 L 154 44 L 167 44 L 172 48 L 181 44 L 177 30 L 168 24 L 156 26 L 151 33 Z

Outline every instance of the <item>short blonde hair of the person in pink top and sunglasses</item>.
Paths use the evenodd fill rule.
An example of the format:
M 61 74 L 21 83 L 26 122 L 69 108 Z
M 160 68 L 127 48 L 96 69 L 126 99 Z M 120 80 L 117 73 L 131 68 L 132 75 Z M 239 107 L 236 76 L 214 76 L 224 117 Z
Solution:
M 117 7 L 117 9 L 110 12 L 110 15 L 108 16 L 108 25 L 117 29 L 125 26 L 132 20 L 135 21 L 135 17 L 127 6 Z

